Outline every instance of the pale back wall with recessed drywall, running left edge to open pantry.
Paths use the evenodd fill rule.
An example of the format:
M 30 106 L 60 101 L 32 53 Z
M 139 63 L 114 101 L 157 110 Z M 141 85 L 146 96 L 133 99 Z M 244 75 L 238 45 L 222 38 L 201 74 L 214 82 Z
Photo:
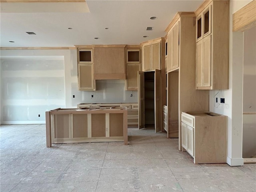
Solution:
M 42 66 L 41 64 L 34 64 L 30 66 L 30 71 L 26 71 L 26 64 L 24 66 L 24 62 L 22 58 L 32 58 L 37 57 L 38 62 L 40 63 L 41 60 L 45 60 L 47 58 L 48 64 L 50 64 L 50 61 L 55 63 L 53 66 L 48 65 L 47 72 L 44 72 L 44 74 L 41 73 L 41 71 L 46 71 L 46 66 Z M 5 69 L 5 77 L 2 78 L 3 73 L 2 69 L 6 68 L 2 65 L 2 61 L 6 61 L 8 63 L 8 58 L 10 59 L 16 59 L 19 60 L 18 64 L 16 63 L 16 67 L 20 68 L 20 71 L 22 69 L 23 76 L 20 77 L 20 79 L 17 79 L 19 76 L 16 77 L 16 80 L 13 82 L 13 84 L 10 86 L 10 92 L 12 90 L 16 89 L 17 87 L 20 88 L 20 86 L 24 87 L 22 90 L 19 90 L 18 93 L 20 97 L 26 98 L 26 96 L 34 96 L 38 99 L 34 99 L 34 102 L 38 102 L 38 104 L 33 104 L 33 106 L 30 106 L 29 99 L 22 99 L 17 100 L 16 103 L 20 105 L 20 109 L 14 109 L 11 107 L 13 106 L 13 101 L 10 99 L 3 99 L 3 94 L 6 92 L 4 89 L 4 86 L 2 86 L 2 83 L 6 81 L 8 82 L 10 79 L 8 76 L 8 73 L 12 73 L 12 75 L 19 75 L 19 71 L 15 70 L 16 67 L 9 66 L 9 70 Z M 62 68 L 60 71 L 59 69 L 54 68 L 56 66 L 56 62 L 53 60 L 56 58 L 62 58 L 64 62 L 64 68 Z M 138 102 L 138 92 L 137 91 L 126 91 L 125 90 L 125 81 L 124 80 L 97 80 L 96 81 L 96 88 L 97 90 L 92 91 L 79 91 L 78 90 L 78 78 L 77 78 L 77 54 L 76 49 L 70 49 L 70 50 L 1 50 L 0 52 L 0 70 L 1 70 L 1 89 L 0 89 L 0 104 L 1 104 L 1 112 L 0 112 L 0 119 L 1 123 L 45 123 L 44 114 L 38 118 L 38 109 L 40 109 L 42 103 L 46 103 L 44 98 L 45 92 L 41 91 L 41 88 L 37 86 L 37 84 L 40 83 L 40 81 L 37 81 L 35 78 L 38 77 L 38 74 L 40 78 L 49 78 L 48 75 L 51 76 L 51 78 L 54 78 L 55 86 L 59 86 L 61 90 L 63 90 L 63 84 L 60 85 L 60 78 L 64 78 L 64 104 L 63 104 L 63 93 L 62 96 L 56 94 L 50 94 L 48 97 L 50 97 L 50 100 L 54 101 L 55 105 L 49 106 L 48 110 L 52 110 L 54 108 L 76 108 L 77 104 L 79 103 L 124 103 L 124 102 Z M 28 60 L 28 59 L 27 59 Z M 44 62 L 44 61 L 42 61 Z M 21 68 L 23 66 L 23 68 Z M 9 72 L 8 72 L 9 71 Z M 26 71 L 26 72 L 25 72 Z M 63 75 L 64 73 L 64 75 Z M 22 79 L 22 78 L 25 78 Z M 30 79 L 29 79 L 30 78 Z M 32 79 L 34 78 L 34 79 Z M 57 80 L 58 79 L 58 80 Z M 50 79 L 49 79 L 50 80 Z M 12 81 L 12 80 L 10 80 Z M 46 80 L 44 80 L 46 81 Z M 62 80 L 61 80 L 62 81 Z M 27 82 L 30 82 L 29 88 L 27 86 L 24 86 Z M 52 80 L 50 80 L 52 82 Z M 57 85 L 58 84 L 58 85 Z M 46 85 L 42 85 L 42 88 L 45 89 Z M 26 89 L 26 91 L 24 91 Z M 38 90 L 39 89 L 39 90 Z M 94 95 L 93 98 L 91 98 L 91 95 Z M 132 94 L 132 97 L 131 97 Z M 74 95 L 74 98 L 73 98 Z M 10 94 L 9 94 L 10 96 Z M 16 97 L 15 95 L 10 97 Z M 55 97 L 55 98 L 54 98 Z M 5 95 L 6 98 L 6 95 Z M 15 98 L 16 99 L 16 98 Z M 10 104 L 11 103 L 11 104 Z M 3 106 L 5 105 L 5 106 Z M 9 105 L 8 108 L 6 108 L 6 105 Z M 23 113 L 28 113 L 27 110 L 24 109 L 24 106 L 28 107 L 30 106 L 29 114 L 37 114 L 36 117 L 33 116 L 33 118 L 28 119 L 28 117 L 24 117 Z M 3 114 L 4 111 L 4 114 Z M 13 115 L 10 115 L 10 111 L 12 111 Z M 25 112 L 24 112 L 25 111 Z M 41 110 L 40 110 L 41 112 Z M 45 112 L 45 111 L 44 111 Z M 9 114 L 8 114 L 9 113 Z M 19 117 L 16 114 L 22 113 Z M 8 117 L 8 121 L 6 121 L 6 117 Z M 16 117 L 16 118 L 14 118 Z M 3 118 L 5 118 L 5 122 L 3 122 Z M 27 121 L 22 121 L 22 119 L 27 118 Z

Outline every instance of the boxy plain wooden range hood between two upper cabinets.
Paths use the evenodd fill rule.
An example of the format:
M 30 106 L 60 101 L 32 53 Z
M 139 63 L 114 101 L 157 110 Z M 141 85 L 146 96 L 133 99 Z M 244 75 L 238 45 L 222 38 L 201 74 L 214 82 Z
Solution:
M 94 47 L 94 79 L 125 79 L 125 46 Z

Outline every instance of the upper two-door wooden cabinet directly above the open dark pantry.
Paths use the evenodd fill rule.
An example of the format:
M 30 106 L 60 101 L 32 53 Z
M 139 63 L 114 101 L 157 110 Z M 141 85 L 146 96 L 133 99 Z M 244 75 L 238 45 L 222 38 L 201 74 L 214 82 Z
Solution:
M 143 71 L 164 69 L 164 43 L 164 38 L 158 38 L 141 43 Z

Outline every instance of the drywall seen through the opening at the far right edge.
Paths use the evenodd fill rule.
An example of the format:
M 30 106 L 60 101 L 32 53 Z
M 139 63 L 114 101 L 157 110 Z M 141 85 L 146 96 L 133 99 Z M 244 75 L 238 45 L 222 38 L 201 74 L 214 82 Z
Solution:
M 256 27 L 244 31 L 243 158 L 256 156 Z

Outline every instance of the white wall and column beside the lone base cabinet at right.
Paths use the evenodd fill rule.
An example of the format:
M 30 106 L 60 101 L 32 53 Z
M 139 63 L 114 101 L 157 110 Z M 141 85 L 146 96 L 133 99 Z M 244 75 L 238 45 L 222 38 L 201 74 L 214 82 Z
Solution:
M 231 166 L 243 165 L 242 159 L 242 88 L 243 88 L 243 32 L 232 32 L 232 14 L 251 0 L 230 1 L 229 33 L 229 89 L 222 90 L 225 104 L 214 107 L 214 95 L 218 90 L 210 91 L 210 111 L 228 116 L 228 154 L 227 163 Z

